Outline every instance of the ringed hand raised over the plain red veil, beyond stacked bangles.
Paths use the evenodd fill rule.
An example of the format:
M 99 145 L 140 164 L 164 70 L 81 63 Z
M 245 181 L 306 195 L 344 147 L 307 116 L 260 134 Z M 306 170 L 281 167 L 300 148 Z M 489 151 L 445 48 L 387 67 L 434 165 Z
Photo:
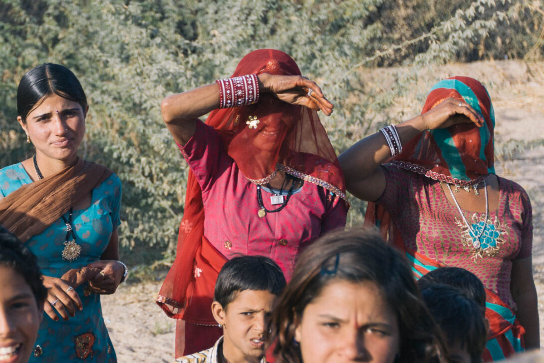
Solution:
M 270 92 L 278 99 L 291 103 L 300 104 L 314 110 L 322 110 L 329 116 L 334 107 L 325 98 L 321 88 L 316 82 L 303 76 L 275 76 L 268 73 L 258 75 L 259 88 L 261 91 Z M 311 92 L 310 92 L 311 90 Z

